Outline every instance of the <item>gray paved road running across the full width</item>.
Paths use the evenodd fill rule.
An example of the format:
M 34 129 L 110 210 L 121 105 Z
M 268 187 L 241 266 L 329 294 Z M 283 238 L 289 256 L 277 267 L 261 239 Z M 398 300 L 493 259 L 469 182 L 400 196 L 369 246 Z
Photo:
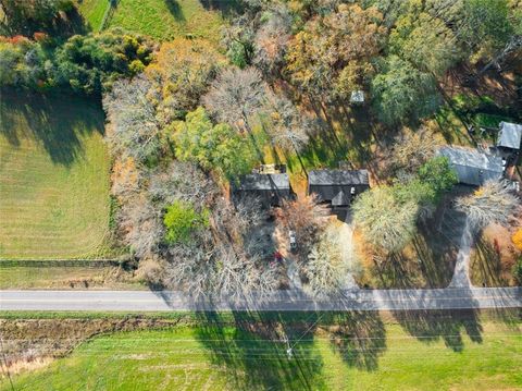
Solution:
M 199 302 L 179 292 L 0 291 L 1 310 L 405 310 L 522 307 L 522 288 L 349 290 L 343 297 L 314 300 L 279 291 L 265 300 Z

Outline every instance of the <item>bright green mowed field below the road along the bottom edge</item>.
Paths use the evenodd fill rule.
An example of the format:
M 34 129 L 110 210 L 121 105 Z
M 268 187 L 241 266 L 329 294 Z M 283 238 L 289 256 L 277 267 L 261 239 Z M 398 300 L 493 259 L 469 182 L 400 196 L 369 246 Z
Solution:
M 481 327 L 423 339 L 388 323 L 378 338 L 344 335 L 344 350 L 316 332 L 290 338 L 291 358 L 285 342 L 235 328 L 116 333 L 13 381 L 15 390 L 520 390 L 520 323 Z

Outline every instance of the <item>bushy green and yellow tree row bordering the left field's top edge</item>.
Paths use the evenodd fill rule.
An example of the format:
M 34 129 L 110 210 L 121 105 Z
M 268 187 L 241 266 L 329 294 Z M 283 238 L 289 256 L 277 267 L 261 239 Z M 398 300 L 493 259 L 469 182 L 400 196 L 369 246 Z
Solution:
M 121 29 L 75 35 L 59 45 L 45 33 L 35 33 L 33 39 L 0 37 L 0 86 L 65 87 L 101 96 L 115 80 L 141 72 L 151 54 L 150 41 Z

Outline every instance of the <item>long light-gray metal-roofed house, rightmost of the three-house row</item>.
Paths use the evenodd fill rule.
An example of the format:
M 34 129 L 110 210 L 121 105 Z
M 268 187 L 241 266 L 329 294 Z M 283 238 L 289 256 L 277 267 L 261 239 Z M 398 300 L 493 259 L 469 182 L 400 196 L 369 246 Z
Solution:
M 438 155 L 446 156 L 457 171 L 459 182 L 481 186 L 487 180 L 500 180 L 504 175 L 502 159 L 475 149 L 442 147 Z

